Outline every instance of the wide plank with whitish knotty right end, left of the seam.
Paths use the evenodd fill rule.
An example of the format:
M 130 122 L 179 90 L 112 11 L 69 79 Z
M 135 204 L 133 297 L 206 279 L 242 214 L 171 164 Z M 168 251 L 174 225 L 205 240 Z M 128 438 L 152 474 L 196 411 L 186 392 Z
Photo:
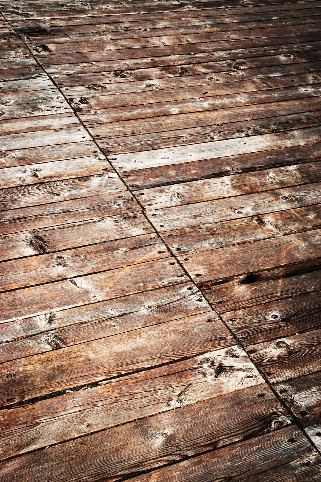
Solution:
M 205 359 L 221 366 L 221 373 L 215 366 L 207 367 Z M 41 400 L 4 410 L 0 458 L 73 439 L 76 427 L 77 436 L 85 435 L 261 383 L 262 377 L 236 345 L 66 393 L 54 403 Z

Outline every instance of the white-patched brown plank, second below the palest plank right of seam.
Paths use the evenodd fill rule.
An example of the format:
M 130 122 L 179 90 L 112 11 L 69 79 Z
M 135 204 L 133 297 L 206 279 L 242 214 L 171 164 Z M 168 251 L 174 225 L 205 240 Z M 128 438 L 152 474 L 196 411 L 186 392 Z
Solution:
M 150 211 L 171 206 L 239 196 L 321 181 L 321 162 L 296 164 L 254 173 L 214 177 L 190 183 L 154 187 L 138 192 L 140 203 Z

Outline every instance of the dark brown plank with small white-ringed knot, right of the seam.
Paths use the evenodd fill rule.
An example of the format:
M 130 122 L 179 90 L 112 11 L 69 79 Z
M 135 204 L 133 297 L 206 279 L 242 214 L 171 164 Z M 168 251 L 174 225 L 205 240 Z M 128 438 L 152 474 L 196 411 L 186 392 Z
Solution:
M 320 292 L 308 293 L 221 316 L 244 346 L 253 345 L 320 326 L 320 297 Z

